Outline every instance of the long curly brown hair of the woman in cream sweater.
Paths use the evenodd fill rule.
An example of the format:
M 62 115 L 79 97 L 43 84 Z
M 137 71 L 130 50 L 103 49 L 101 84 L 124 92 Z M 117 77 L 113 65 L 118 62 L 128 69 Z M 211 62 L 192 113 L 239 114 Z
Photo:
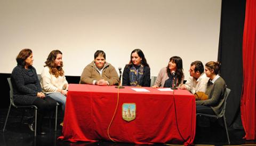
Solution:
M 55 77 L 59 77 L 59 76 L 63 76 L 64 75 L 64 71 L 62 69 L 63 67 L 63 63 L 61 63 L 61 66 L 58 67 L 55 65 L 55 59 L 57 58 L 58 54 L 62 54 L 62 52 L 60 52 L 59 50 L 53 50 L 51 51 L 51 53 L 48 55 L 45 63 L 44 67 L 49 67 L 50 68 L 50 73 L 52 75 L 54 75 Z

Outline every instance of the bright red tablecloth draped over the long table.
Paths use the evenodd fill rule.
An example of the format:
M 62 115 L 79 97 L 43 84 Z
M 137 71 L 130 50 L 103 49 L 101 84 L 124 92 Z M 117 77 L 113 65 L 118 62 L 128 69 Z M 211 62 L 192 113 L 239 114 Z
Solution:
M 129 143 L 192 144 L 195 137 L 196 105 L 186 90 L 136 92 L 132 87 L 119 89 L 119 102 L 109 128 L 111 139 Z M 115 86 L 70 84 L 62 136 L 76 141 L 110 140 L 107 128 L 117 103 Z M 136 118 L 122 118 L 122 104 L 136 104 Z

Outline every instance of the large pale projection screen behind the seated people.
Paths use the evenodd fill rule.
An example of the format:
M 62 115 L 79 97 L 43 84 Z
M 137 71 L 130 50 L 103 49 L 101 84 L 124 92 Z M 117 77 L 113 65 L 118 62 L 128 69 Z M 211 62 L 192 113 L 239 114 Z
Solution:
M 177 55 L 185 79 L 191 62 L 217 60 L 221 0 L 1 0 L 0 8 L 0 73 L 12 72 L 22 48 L 33 50 L 38 74 L 60 50 L 66 76 L 80 76 L 97 50 L 117 70 L 140 48 L 151 76 Z

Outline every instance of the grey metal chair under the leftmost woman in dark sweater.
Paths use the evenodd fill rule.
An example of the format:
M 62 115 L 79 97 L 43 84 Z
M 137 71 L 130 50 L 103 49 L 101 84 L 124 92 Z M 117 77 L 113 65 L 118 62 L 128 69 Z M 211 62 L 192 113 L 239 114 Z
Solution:
M 5 119 L 5 123 L 4 123 L 4 128 L 3 128 L 3 132 L 5 131 L 5 127 L 6 127 L 6 124 L 7 124 L 7 119 L 9 117 L 9 113 L 10 113 L 10 110 L 11 110 L 11 107 L 13 106 L 14 108 L 32 108 L 32 109 L 35 109 L 35 136 L 36 136 L 36 127 L 37 127 L 37 107 L 34 106 L 34 105 L 29 105 L 29 106 L 17 106 L 14 104 L 14 101 L 13 101 L 13 87 L 12 87 L 12 82 L 11 82 L 11 78 L 7 78 L 7 81 L 9 83 L 9 86 L 10 86 L 10 106 L 9 106 L 9 110 L 7 112 L 7 116 L 6 116 L 6 119 Z M 55 131 L 57 131 L 57 112 L 58 112 L 58 106 L 59 104 L 57 103 L 56 104 L 56 110 L 55 110 Z M 23 117 L 22 117 L 23 118 Z

